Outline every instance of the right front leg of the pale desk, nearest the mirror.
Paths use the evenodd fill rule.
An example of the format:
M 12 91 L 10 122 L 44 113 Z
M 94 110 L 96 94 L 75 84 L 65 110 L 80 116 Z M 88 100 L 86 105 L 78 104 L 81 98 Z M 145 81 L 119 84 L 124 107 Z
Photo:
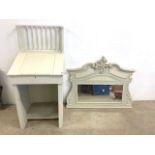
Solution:
M 62 84 L 58 84 L 58 124 L 59 128 L 63 126 L 63 88 Z

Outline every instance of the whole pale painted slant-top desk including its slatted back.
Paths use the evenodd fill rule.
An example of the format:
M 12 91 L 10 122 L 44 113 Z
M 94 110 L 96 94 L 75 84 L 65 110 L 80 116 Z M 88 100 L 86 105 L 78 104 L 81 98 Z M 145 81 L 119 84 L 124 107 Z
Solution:
M 20 51 L 8 76 L 21 128 L 29 119 L 58 119 L 63 125 L 63 28 L 17 26 Z

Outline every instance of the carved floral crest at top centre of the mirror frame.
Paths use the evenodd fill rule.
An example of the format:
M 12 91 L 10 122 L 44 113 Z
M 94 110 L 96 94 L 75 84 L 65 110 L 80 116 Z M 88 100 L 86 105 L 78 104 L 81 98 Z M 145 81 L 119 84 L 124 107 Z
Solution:
M 102 57 L 99 61 L 92 64 L 91 66 L 94 70 L 99 71 L 100 73 L 103 73 L 105 69 L 111 68 L 111 65 L 107 63 L 107 60 L 105 57 Z

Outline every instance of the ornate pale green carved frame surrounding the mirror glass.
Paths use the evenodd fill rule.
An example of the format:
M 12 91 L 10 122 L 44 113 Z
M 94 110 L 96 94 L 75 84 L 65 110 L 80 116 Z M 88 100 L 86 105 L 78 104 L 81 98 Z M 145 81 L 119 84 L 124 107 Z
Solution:
M 124 70 L 117 64 L 108 64 L 102 57 L 96 63 L 89 63 L 82 68 L 69 70 L 71 89 L 67 97 L 68 108 L 130 108 L 132 101 L 129 83 L 133 71 Z M 103 96 L 78 94 L 78 85 L 123 85 L 122 99 Z

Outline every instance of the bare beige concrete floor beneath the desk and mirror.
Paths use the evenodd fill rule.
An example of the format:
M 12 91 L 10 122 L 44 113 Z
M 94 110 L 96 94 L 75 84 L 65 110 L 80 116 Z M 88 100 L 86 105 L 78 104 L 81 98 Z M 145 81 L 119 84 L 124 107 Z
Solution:
M 134 102 L 131 109 L 66 109 L 64 126 L 57 120 L 28 121 L 20 129 L 15 105 L 0 110 L 0 134 L 155 134 L 155 101 Z

